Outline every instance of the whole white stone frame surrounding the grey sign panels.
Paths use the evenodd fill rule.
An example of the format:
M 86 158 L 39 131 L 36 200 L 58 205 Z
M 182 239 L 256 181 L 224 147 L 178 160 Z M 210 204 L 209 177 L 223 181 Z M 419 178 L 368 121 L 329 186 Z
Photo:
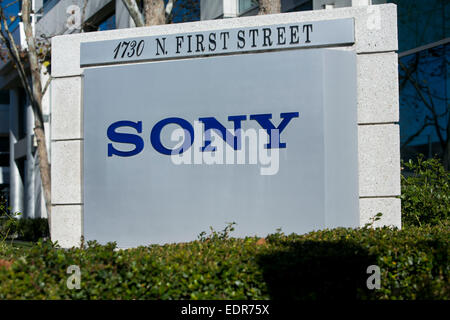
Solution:
M 360 225 L 364 226 L 381 212 L 382 219 L 374 226 L 401 227 L 397 12 L 395 5 L 386 4 L 54 37 L 51 85 L 52 240 L 58 241 L 62 247 L 79 246 L 83 235 L 83 68 L 80 68 L 80 43 L 341 18 L 355 20 L 355 44 L 334 48 L 357 53 Z

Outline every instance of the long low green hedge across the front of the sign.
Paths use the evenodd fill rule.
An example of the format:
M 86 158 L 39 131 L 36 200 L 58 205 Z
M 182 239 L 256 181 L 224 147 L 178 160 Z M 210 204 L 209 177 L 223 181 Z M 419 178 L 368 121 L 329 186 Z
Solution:
M 276 233 L 265 240 L 203 234 L 129 250 L 3 246 L 0 259 L 13 263 L 0 267 L 0 299 L 450 299 L 449 227 Z M 70 265 L 81 269 L 81 289 L 66 286 Z M 366 287 L 369 265 L 381 269 L 379 290 Z

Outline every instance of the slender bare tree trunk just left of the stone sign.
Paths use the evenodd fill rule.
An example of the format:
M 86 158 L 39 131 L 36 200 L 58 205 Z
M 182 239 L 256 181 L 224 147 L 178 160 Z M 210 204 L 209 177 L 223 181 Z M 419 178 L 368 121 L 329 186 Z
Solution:
M 42 188 L 44 189 L 45 207 L 47 209 L 48 221 L 51 220 L 51 180 L 50 164 L 48 162 L 47 145 L 44 132 L 44 121 L 42 116 L 42 84 L 41 68 L 36 52 L 36 44 L 31 26 L 31 0 L 24 0 L 22 3 L 23 26 L 25 38 L 28 46 L 28 60 L 31 69 L 31 81 L 33 86 L 33 96 L 30 97 L 33 105 L 35 118 L 34 133 L 37 140 L 37 151 L 39 154 L 39 170 L 41 173 Z

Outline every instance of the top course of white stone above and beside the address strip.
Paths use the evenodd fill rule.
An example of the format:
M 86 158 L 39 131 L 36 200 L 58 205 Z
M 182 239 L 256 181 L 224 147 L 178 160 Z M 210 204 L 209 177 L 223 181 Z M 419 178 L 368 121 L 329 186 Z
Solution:
M 79 65 L 81 42 L 343 18 L 355 19 L 356 42 L 349 48 L 357 53 L 389 52 L 398 49 L 397 6 L 382 4 L 55 36 L 52 38 L 52 76 L 67 77 L 82 73 Z

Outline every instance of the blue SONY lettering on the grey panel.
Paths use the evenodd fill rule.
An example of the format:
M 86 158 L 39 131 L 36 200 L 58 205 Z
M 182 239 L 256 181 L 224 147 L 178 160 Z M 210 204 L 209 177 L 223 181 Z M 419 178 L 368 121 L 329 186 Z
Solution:
M 298 112 L 286 112 L 281 113 L 280 118 L 282 119 L 278 127 L 275 127 L 270 119 L 272 119 L 272 114 L 252 114 L 250 115 L 250 120 L 255 120 L 262 129 L 267 132 L 269 137 L 269 143 L 265 145 L 266 149 L 272 148 L 286 148 L 286 143 L 281 142 L 281 133 L 289 124 L 289 122 L 293 118 L 298 118 Z M 211 131 L 215 131 L 220 135 L 220 137 L 230 145 L 234 150 L 241 149 L 241 122 L 247 120 L 246 115 L 237 115 L 237 116 L 229 116 L 228 121 L 232 121 L 234 124 L 234 134 L 231 133 L 228 129 L 225 128 L 223 124 L 221 124 L 214 117 L 205 117 L 199 118 L 200 122 L 204 125 L 204 144 L 201 147 L 201 151 L 214 151 L 215 147 L 210 146 L 211 144 Z M 185 141 L 183 145 L 178 147 L 177 149 L 169 149 L 166 148 L 161 142 L 161 131 L 162 129 L 169 125 L 175 124 L 180 126 L 185 132 Z M 131 157 L 139 154 L 144 149 L 144 139 L 138 134 L 131 133 L 123 133 L 117 132 L 118 128 L 121 127 L 130 127 L 136 130 L 138 134 L 142 133 L 142 121 L 129 121 L 129 120 L 121 120 L 112 123 L 107 130 L 108 139 L 112 142 L 117 143 L 126 143 L 134 145 L 134 149 L 131 151 L 121 151 L 116 149 L 112 143 L 108 143 L 108 157 L 112 157 L 113 155 L 119 157 Z M 272 133 L 273 131 L 277 131 L 278 140 L 272 141 Z M 224 138 L 225 137 L 225 138 Z M 173 154 L 181 154 L 188 150 L 194 142 L 194 128 L 191 123 L 185 119 L 172 117 L 166 118 L 158 123 L 156 123 L 152 131 L 150 133 L 150 142 L 153 148 L 161 154 L 165 155 L 173 155 Z

